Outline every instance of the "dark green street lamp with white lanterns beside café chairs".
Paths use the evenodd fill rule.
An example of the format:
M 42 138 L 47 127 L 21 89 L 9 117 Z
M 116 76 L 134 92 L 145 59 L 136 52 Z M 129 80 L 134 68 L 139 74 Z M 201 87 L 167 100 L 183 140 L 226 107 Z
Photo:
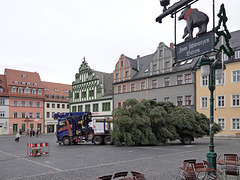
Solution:
M 206 55 L 202 55 L 198 61 L 198 67 L 201 67 L 201 76 L 208 76 L 209 83 L 208 88 L 210 90 L 210 143 L 209 143 L 209 152 L 207 153 L 207 161 L 216 169 L 216 157 L 217 154 L 214 152 L 214 132 L 213 132 L 213 123 L 214 123 L 214 97 L 213 92 L 215 90 L 215 79 L 222 79 L 223 70 L 226 69 L 225 65 L 221 61 L 213 58 L 209 58 Z

